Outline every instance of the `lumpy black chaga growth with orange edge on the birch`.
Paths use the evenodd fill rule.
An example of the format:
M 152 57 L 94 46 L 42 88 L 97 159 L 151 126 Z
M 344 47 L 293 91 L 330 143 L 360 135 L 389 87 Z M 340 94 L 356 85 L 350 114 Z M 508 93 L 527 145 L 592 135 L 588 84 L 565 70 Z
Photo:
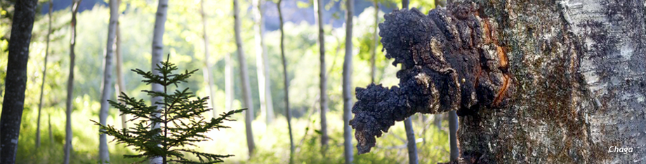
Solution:
M 452 4 L 424 15 L 416 8 L 384 15 L 379 35 L 386 57 L 397 71 L 399 87 L 370 84 L 357 88 L 352 107 L 359 153 L 376 144 L 395 121 L 417 112 L 437 114 L 459 110 L 460 116 L 480 107 L 508 104 L 513 81 L 508 74 L 506 48 L 499 46 L 494 26 L 477 16 L 474 3 Z

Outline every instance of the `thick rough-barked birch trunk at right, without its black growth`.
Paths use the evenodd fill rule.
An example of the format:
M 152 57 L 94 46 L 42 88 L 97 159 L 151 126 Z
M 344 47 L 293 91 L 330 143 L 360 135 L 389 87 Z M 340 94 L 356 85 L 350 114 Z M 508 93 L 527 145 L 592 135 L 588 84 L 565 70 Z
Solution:
M 463 157 L 646 161 L 644 1 L 477 4 L 506 43 L 519 89 L 508 109 L 460 118 Z

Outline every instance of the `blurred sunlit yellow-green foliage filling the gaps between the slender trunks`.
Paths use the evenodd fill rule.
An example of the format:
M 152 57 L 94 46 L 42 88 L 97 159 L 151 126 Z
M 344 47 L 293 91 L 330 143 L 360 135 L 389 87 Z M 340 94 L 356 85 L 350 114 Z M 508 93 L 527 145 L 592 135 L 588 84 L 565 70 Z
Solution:
M 1 1 L 0 17 L 0 79 L 6 77 L 8 54 L 8 35 L 11 32 L 11 15 L 16 0 Z M 319 46 L 317 43 L 318 30 L 315 24 L 313 3 L 308 0 L 284 0 L 282 12 L 284 15 L 285 55 L 288 66 L 287 76 L 290 83 L 289 100 L 293 118 L 292 130 L 296 146 L 296 163 L 343 163 L 343 96 L 342 71 L 345 55 L 345 1 L 322 0 L 324 4 L 324 35 L 325 60 L 328 75 L 327 95 L 329 96 L 329 112 L 327 112 L 327 129 L 329 133 L 329 149 L 322 154 L 320 144 L 320 109 L 319 109 Z M 378 0 L 376 10 L 374 1 L 355 1 L 353 36 L 353 69 L 352 87 L 365 87 L 371 83 L 371 55 L 376 48 L 374 82 L 384 86 L 396 86 L 399 80 L 395 76 L 400 68 L 390 64 L 382 52 L 381 43 L 375 47 L 374 27 L 375 14 L 378 22 L 383 22 L 383 14 L 390 13 L 394 8 L 401 8 L 401 0 Z M 251 0 L 240 0 L 242 39 L 244 53 L 249 69 L 251 97 L 255 119 L 252 123 L 256 139 L 256 154 L 250 158 L 244 139 L 244 116 L 237 114 L 237 121 L 226 122 L 232 128 L 213 130 L 207 135 L 213 140 L 199 143 L 199 150 L 207 153 L 233 154 L 225 158 L 225 163 L 287 163 L 289 160 L 289 133 L 285 117 L 284 83 L 282 60 L 279 47 L 279 19 L 276 1 L 264 1 L 264 41 L 270 93 L 265 98 L 268 101 L 261 107 L 258 88 L 258 57 L 256 55 L 257 25 L 252 9 Z M 423 13 L 435 8 L 434 0 L 412 0 L 410 6 L 419 8 Z M 48 1 L 39 1 L 39 13 L 34 22 L 32 41 L 29 48 L 27 70 L 27 91 L 25 93 L 25 111 L 22 114 L 17 163 L 60 163 L 62 149 L 65 144 L 65 100 L 66 85 L 69 71 L 70 51 L 70 11 L 71 0 L 53 0 L 53 22 L 50 36 L 50 54 L 46 65 L 46 81 L 44 83 L 44 100 L 41 113 L 41 146 L 36 149 L 37 117 L 39 94 L 46 51 L 46 36 L 48 32 Z M 242 85 L 239 77 L 239 62 L 237 61 L 234 18 L 231 0 L 204 1 L 199 0 L 170 1 L 168 20 L 164 33 L 163 54 L 170 54 L 170 60 L 178 65 L 180 70 L 203 69 L 204 63 L 211 63 L 209 69 L 213 81 L 213 109 L 219 114 L 223 111 L 242 108 Z M 201 5 L 204 5 L 206 18 L 206 34 L 208 45 L 203 37 Z M 152 32 L 154 26 L 157 1 L 153 0 L 123 0 L 119 5 L 120 49 L 123 57 L 123 76 L 125 93 L 131 97 L 150 98 L 141 90 L 149 90 L 150 86 L 142 83 L 130 69 L 150 70 Z M 107 1 L 84 0 L 79 5 L 77 15 L 77 43 L 75 48 L 76 67 L 74 67 L 74 111 L 72 124 L 74 142 L 72 146 L 72 163 L 96 163 L 98 161 L 98 126 L 90 119 L 99 119 L 101 79 L 103 78 L 103 59 L 107 41 L 107 27 L 110 10 Z M 209 61 L 205 61 L 204 49 L 210 49 Z M 225 60 L 227 55 L 230 60 Z M 166 55 L 164 55 L 166 57 Z M 165 60 L 165 59 L 164 59 Z M 227 76 L 227 65 L 233 68 L 233 74 Z M 116 74 L 113 74 L 116 75 Z M 230 78 L 232 95 L 227 95 L 226 80 Z M 198 71 L 183 83 L 180 88 L 190 88 L 199 97 L 209 96 L 209 83 L 205 74 Z M 113 84 L 116 88 L 116 78 Z M 0 94 L 4 93 L 4 81 L 0 81 Z M 354 90 L 352 90 L 354 92 Z M 117 93 L 117 92 L 114 92 Z M 3 97 L 4 95 L 0 95 Z M 117 100 L 114 94 L 110 100 Z M 354 97 L 354 96 L 352 96 Z M 3 100 L 0 98 L 0 100 Z M 229 102 L 228 102 L 229 100 Z M 227 104 L 231 105 L 228 106 Z M 266 110 L 272 110 L 268 112 Z M 273 113 L 274 118 L 268 121 L 266 115 Z M 205 114 L 210 118 L 211 114 Z M 413 127 L 418 147 L 420 163 L 437 163 L 449 161 L 449 139 L 446 116 L 412 116 Z M 110 108 L 107 124 L 121 128 L 119 111 Z M 131 123 L 129 124 L 131 125 Z M 402 122 L 397 122 L 389 132 L 377 139 L 377 146 L 370 153 L 357 155 L 355 163 L 407 163 L 407 136 Z M 356 144 L 354 138 L 353 143 Z M 108 137 L 112 140 L 112 137 Z M 123 154 L 136 153 L 124 144 L 110 142 L 110 160 L 112 163 L 131 163 L 137 160 L 124 159 Z

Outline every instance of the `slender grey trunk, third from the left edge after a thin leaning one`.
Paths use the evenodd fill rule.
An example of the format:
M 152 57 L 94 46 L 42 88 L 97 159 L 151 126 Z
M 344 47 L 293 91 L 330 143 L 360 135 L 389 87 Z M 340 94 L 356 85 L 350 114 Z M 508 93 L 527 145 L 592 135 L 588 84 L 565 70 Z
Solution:
M 72 0 L 72 36 L 70 41 L 70 75 L 67 78 L 67 100 L 65 102 L 65 156 L 63 163 L 70 163 L 70 153 L 72 153 L 72 99 L 74 99 L 74 46 L 77 40 L 77 13 L 79 4 L 82 0 Z

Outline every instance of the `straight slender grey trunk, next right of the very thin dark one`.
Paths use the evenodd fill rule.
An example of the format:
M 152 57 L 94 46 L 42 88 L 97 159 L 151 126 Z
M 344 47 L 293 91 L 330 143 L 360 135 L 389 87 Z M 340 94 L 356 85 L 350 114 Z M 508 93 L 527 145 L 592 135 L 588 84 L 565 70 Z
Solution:
M 319 104 L 321 105 L 321 146 L 323 146 L 322 156 L 325 156 L 329 137 L 327 135 L 327 72 L 325 68 L 325 33 L 323 31 L 323 0 L 316 0 L 314 9 L 315 16 L 319 27 L 319 53 L 321 59 L 319 77 L 321 79 L 319 88 L 321 90 Z

